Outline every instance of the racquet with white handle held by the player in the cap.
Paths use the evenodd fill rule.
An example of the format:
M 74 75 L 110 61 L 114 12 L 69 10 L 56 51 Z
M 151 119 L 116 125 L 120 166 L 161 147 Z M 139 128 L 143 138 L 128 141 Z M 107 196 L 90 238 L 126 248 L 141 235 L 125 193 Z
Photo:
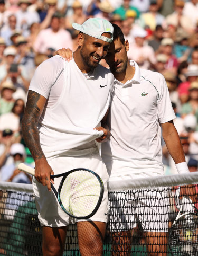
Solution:
M 18 170 L 35 175 L 32 167 L 20 163 Z M 78 168 L 51 175 L 50 178 L 63 177 L 58 191 L 51 183 L 51 188 L 61 208 L 76 219 L 88 219 L 98 210 L 104 193 L 103 182 L 99 175 L 91 170 Z

